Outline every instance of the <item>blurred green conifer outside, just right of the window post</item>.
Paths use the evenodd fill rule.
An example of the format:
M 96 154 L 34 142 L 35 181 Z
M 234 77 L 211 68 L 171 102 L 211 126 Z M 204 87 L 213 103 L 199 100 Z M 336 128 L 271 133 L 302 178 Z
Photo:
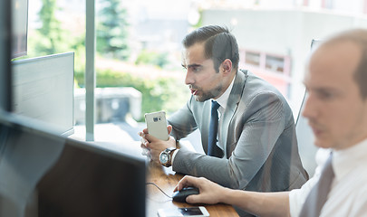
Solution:
M 127 10 L 121 0 L 101 0 L 97 26 L 97 52 L 127 60 L 129 57 Z

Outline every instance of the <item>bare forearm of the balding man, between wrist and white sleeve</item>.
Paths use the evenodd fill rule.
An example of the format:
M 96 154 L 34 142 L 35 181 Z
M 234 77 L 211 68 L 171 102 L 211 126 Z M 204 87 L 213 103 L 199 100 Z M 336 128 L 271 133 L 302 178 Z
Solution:
M 257 193 L 226 189 L 219 202 L 235 205 L 258 216 L 289 216 L 288 192 Z

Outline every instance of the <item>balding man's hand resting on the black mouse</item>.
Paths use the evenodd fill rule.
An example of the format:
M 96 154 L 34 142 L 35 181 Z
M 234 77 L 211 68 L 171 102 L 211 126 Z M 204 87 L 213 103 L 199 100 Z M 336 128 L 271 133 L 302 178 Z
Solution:
M 186 198 L 187 203 L 221 203 L 223 201 L 221 197 L 224 196 L 227 191 L 226 188 L 219 184 L 215 184 L 204 177 L 198 178 L 190 175 L 183 177 L 173 191 L 176 192 L 188 186 L 197 187 L 200 193 L 189 195 Z

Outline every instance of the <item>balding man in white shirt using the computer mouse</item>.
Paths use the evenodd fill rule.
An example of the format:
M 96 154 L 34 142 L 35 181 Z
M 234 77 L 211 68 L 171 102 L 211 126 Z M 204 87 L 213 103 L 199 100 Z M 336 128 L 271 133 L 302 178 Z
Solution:
M 195 186 L 200 193 L 186 202 L 227 203 L 256 216 L 367 216 L 367 30 L 324 40 L 305 69 L 302 115 L 319 147 L 314 176 L 290 192 L 256 193 L 187 175 L 175 190 Z

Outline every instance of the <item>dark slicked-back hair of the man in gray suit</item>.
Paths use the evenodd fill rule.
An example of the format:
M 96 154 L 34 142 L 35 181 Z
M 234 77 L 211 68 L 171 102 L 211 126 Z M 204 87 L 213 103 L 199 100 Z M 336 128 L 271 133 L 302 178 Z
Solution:
M 185 48 L 197 42 L 204 42 L 205 57 L 214 61 L 216 71 L 219 71 L 220 64 L 229 59 L 232 61 L 234 70 L 238 70 L 238 44 L 235 36 L 229 33 L 227 27 L 218 25 L 207 25 L 188 33 L 182 44 Z

